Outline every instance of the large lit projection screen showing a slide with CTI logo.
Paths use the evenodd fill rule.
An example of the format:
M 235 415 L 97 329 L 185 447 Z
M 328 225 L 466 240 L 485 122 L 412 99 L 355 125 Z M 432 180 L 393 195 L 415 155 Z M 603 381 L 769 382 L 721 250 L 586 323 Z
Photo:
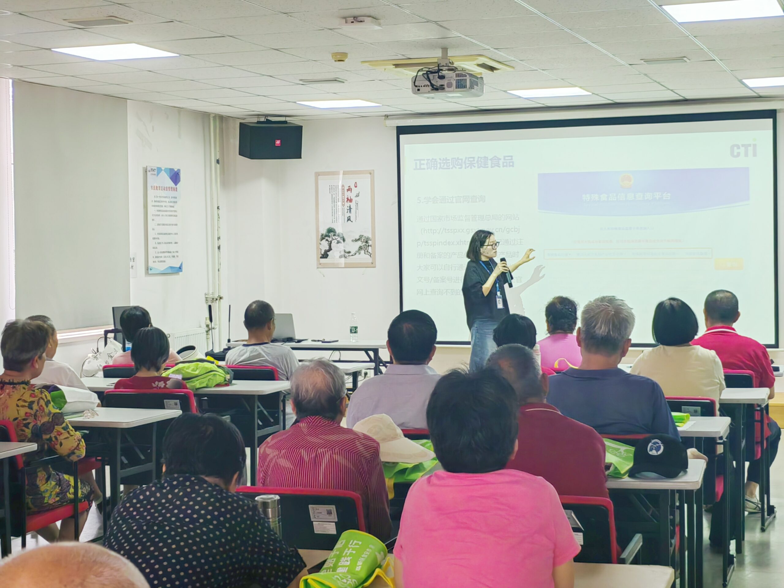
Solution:
M 401 307 L 434 318 L 441 343 L 470 339 L 466 249 L 492 230 L 514 272 L 510 310 L 546 336 L 569 296 L 633 307 L 652 345 L 656 303 L 684 299 L 704 328 L 714 289 L 740 300 L 739 330 L 778 346 L 775 111 L 397 127 Z

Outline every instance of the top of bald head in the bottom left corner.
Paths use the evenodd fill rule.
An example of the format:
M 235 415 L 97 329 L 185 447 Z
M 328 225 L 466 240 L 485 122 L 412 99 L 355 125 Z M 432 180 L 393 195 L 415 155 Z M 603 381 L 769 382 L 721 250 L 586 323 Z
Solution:
M 149 588 L 124 557 L 94 543 L 56 543 L 0 561 L 5 586 L 14 588 Z

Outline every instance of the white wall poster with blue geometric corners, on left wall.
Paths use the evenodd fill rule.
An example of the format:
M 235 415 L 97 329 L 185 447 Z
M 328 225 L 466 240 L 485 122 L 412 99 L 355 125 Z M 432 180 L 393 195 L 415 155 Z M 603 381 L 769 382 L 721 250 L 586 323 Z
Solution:
M 147 166 L 147 274 L 180 274 L 180 169 Z

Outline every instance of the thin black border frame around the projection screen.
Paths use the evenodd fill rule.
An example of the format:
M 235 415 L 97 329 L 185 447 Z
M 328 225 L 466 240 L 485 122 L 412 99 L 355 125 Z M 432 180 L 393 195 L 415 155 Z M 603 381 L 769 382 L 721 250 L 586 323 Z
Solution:
M 778 185 L 777 185 L 777 154 L 776 154 L 776 111 L 729 111 L 706 112 L 695 114 L 655 114 L 647 116 L 608 117 L 608 118 L 564 118 L 546 121 L 515 121 L 515 122 L 474 122 L 447 125 L 398 125 L 397 141 L 397 254 L 398 254 L 398 285 L 400 289 L 400 311 L 403 311 L 403 201 L 401 174 L 401 135 L 424 135 L 447 132 L 503 131 L 516 129 L 557 129 L 581 126 L 613 126 L 613 125 L 645 125 L 667 122 L 706 122 L 770 119 L 773 141 L 773 321 L 774 343 L 764 343 L 768 349 L 779 347 L 779 221 L 778 221 Z M 470 345 L 470 341 L 441 341 L 439 345 Z M 634 343 L 632 347 L 656 347 L 655 343 Z

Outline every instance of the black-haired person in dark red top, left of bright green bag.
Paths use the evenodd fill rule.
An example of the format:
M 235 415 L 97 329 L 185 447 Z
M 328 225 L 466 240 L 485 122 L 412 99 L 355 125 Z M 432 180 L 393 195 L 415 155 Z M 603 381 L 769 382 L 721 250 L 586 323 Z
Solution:
M 169 337 L 158 327 L 147 327 L 136 333 L 136 343 L 131 347 L 131 359 L 136 374 L 118 379 L 114 390 L 163 390 L 187 388 L 180 378 L 161 376 L 169 358 Z

